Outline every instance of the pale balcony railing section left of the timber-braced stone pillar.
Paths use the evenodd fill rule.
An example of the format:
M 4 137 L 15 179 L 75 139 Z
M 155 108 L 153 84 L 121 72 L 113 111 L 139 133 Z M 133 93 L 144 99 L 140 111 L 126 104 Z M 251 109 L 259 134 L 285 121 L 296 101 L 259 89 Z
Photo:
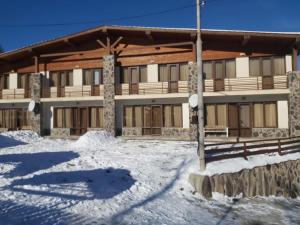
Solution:
M 42 98 L 103 96 L 103 85 L 50 87 L 42 89 Z

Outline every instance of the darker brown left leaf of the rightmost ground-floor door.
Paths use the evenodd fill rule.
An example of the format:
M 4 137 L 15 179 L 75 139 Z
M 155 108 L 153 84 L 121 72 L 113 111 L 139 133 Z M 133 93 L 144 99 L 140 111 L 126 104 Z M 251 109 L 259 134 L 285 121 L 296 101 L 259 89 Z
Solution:
M 237 104 L 228 104 L 229 136 L 239 136 L 239 109 Z

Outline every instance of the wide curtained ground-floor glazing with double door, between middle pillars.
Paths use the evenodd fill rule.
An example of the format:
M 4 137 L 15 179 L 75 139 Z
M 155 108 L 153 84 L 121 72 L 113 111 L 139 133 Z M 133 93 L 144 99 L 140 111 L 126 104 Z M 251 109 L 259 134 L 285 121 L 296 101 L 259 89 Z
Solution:
M 182 123 L 181 104 L 124 106 L 124 127 L 159 129 L 161 127 L 182 127 Z

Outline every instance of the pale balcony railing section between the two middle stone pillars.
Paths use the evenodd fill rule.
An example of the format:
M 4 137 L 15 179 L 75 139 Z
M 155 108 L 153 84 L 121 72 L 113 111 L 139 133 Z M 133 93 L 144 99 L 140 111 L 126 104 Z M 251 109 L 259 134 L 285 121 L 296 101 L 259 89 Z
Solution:
M 117 84 L 116 95 L 187 93 L 187 81 Z

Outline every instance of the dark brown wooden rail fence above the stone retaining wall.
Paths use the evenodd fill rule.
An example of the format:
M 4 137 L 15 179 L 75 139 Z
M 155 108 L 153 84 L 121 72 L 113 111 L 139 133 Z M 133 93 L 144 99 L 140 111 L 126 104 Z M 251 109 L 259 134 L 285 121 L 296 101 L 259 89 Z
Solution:
M 268 153 L 286 155 L 295 152 L 300 152 L 300 136 L 237 143 L 208 144 L 205 146 L 205 159 L 209 163 L 239 157 L 247 160 L 248 156 L 251 155 Z

